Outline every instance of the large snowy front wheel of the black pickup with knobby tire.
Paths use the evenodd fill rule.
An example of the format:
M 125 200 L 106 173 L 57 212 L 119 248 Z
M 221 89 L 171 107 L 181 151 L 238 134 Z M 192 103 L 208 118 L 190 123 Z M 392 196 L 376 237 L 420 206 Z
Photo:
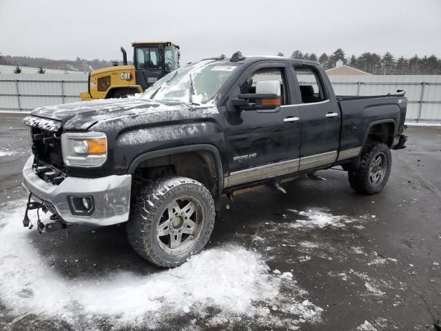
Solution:
M 193 207 L 188 207 L 191 203 L 193 214 Z M 158 179 L 133 192 L 127 237 L 141 257 L 158 267 L 172 268 L 203 250 L 215 217 L 212 195 L 203 184 L 186 177 Z M 185 223 L 190 221 L 193 225 Z

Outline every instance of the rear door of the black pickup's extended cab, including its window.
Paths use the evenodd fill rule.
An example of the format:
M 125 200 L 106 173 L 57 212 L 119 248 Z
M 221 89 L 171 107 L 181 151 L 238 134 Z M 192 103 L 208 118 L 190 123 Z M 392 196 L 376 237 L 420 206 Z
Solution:
M 341 114 L 334 94 L 325 88 L 314 65 L 291 66 L 296 81 L 300 125 L 300 168 L 313 169 L 336 161 L 340 143 Z

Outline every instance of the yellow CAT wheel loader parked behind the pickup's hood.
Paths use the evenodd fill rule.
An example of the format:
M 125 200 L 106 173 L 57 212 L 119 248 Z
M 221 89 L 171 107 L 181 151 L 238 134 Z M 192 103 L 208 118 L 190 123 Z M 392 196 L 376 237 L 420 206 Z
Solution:
M 123 65 L 92 70 L 89 73 L 88 92 L 80 92 L 81 101 L 123 98 L 141 93 L 158 79 L 179 68 L 179 46 L 170 41 L 134 42 L 133 66 L 127 66 L 127 53 L 123 52 Z

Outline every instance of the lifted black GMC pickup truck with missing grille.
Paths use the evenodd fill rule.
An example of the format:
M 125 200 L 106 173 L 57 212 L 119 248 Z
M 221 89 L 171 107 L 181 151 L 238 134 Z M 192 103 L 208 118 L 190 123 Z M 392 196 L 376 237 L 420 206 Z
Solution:
M 23 123 L 28 210 L 46 231 L 127 222 L 134 250 L 161 267 L 200 252 L 221 194 L 340 165 L 376 194 L 404 147 L 404 92 L 336 97 L 319 63 L 218 57 L 167 74 L 135 99 L 37 108 Z M 32 223 L 31 223 L 32 226 Z

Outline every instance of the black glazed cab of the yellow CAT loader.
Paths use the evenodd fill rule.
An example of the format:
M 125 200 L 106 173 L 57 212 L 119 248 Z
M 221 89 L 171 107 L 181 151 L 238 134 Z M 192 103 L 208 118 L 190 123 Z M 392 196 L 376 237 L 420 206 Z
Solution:
M 135 42 L 132 46 L 136 84 L 142 86 L 143 90 L 179 68 L 179 46 L 174 43 Z

